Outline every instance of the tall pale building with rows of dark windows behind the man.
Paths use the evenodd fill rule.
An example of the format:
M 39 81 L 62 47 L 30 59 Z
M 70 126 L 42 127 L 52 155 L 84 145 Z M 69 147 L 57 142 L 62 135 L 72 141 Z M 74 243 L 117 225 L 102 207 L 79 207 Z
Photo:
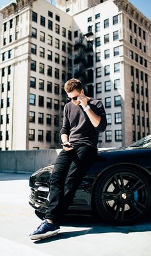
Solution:
M 60 147 L 72 77 L 104 103 L 99 147 L 150 133 L 151 23 L 129 1 L 19 0 L 1 13 L 1 150 Z

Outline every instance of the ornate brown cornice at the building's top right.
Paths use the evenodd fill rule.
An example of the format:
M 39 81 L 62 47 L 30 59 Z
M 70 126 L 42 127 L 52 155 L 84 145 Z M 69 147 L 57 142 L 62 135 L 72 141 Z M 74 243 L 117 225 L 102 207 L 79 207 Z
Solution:
M 147 30 L 151 32 L 151 21 L 145 15 L 143 15 L 139 10 L 129 3 L 128 0 L 113 0 L 115 5 L 118 7 L 119 11 L 123 11 L 133 19 L 136 20 L 141 26 L 144 26 Z

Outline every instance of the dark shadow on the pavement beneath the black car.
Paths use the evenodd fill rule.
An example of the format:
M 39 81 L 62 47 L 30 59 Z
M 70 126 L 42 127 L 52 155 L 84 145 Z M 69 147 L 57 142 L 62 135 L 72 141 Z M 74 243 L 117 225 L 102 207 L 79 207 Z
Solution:
M 62 227 L 82 228 L 83 230 L 60 232 L 58 235 L 48 237 L 42 240 L 34 241 L 35 244 L 42 244 L 47 242 L 53 242 L 61 239 L 68 239 L 70 237 L 78 237 L 80 235 L 96 234 L 96 233 L 134 233 L 134 232 L 148 232 L 151 231 L 151 218 L 147 217 L 144 221 L 133 224 L 131 226 L 115 226 L 105 223 L 103 220 L 98 221 L 90 216 L 65 216 Z

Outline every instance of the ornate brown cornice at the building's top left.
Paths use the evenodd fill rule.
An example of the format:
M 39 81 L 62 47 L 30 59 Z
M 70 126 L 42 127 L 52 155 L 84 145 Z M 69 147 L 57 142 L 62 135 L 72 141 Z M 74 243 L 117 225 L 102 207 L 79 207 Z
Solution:
M 10 5 L 5 6 L 3 9 L 1 9 L 1 14 L 3 14 L 3 19 L 6 19 L 12 14 L 15 14 L 19 10 L 22 10 L 26 6 L 33 6 L 33 2 L 36 0 L 16 0 L 13 3 L 10 3 Z

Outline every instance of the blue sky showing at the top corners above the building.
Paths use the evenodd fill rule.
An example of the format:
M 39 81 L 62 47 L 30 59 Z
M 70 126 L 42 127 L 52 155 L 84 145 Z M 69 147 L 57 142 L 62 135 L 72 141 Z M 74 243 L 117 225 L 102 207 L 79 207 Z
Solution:
M 82 0 L 81 0 L 82 1 Z M 148 19 L 151 19 L 151 1 L 150 0 L 129 0 L 139 11 L 141 11 Z M 11 3 L 11 0 L 1 0 L 0 9 L 4 5 Z

